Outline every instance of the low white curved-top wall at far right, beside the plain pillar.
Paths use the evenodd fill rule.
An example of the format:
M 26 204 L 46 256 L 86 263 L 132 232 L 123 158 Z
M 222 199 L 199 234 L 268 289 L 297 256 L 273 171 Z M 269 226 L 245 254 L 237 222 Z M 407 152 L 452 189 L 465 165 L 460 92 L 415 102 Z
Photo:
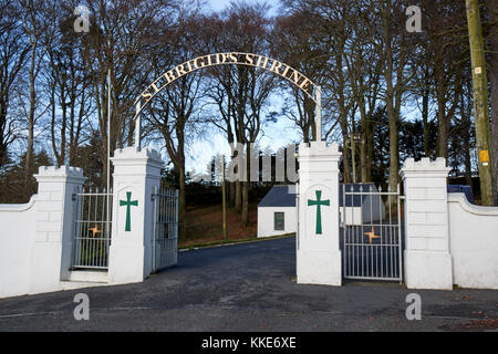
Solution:
M 470 205 L 448 194 L 453 282 L 463 288 L 498 289 L 498 208 Z

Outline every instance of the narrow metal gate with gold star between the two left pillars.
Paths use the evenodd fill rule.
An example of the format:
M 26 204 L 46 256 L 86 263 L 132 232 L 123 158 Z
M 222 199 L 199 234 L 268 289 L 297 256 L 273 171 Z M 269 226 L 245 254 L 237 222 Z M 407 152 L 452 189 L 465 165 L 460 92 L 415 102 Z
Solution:
M 106 270 L 113 194 L 89 190 L 73 195 L 75 223 L 73 230 L 72 269 Z

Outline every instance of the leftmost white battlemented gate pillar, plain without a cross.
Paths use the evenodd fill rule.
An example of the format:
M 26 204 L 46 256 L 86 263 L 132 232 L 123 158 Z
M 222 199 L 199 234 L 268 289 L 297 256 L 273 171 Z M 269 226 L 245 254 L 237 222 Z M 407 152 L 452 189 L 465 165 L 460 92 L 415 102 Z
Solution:
M 69 279 L 73 228 L 73 194 L 84 180 L 77 167 L 40 167 L 38 175 L 37 221 L 31 253 L 30 293 L 59 289 Z

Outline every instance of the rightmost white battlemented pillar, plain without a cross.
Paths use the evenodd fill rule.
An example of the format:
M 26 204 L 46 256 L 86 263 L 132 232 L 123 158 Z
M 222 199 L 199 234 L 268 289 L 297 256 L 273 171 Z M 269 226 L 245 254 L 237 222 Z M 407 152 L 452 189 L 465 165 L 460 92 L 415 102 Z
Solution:
M 442 157 L 405 160 L 405 283 L 408 289 L 453 289 L 449 254 L 448 194 L 450 168 Z

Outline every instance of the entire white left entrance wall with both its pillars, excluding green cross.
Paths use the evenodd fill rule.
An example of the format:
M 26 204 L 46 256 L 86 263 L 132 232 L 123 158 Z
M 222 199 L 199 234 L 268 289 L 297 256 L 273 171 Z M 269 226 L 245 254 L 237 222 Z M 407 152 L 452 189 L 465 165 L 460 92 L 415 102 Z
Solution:
M 134 147 L 114 158 L 113 231 L 107 272 L 70 271 L 74 202 L 85 177 L 81 168 L 40 167 L 38 195 L 27 205 L 0 205 L 0 298 L 144 280 L 152 269 L 153 201 L 163 162 L 157 152 Z M 132 230 L 120 200 L 132 191 Z

